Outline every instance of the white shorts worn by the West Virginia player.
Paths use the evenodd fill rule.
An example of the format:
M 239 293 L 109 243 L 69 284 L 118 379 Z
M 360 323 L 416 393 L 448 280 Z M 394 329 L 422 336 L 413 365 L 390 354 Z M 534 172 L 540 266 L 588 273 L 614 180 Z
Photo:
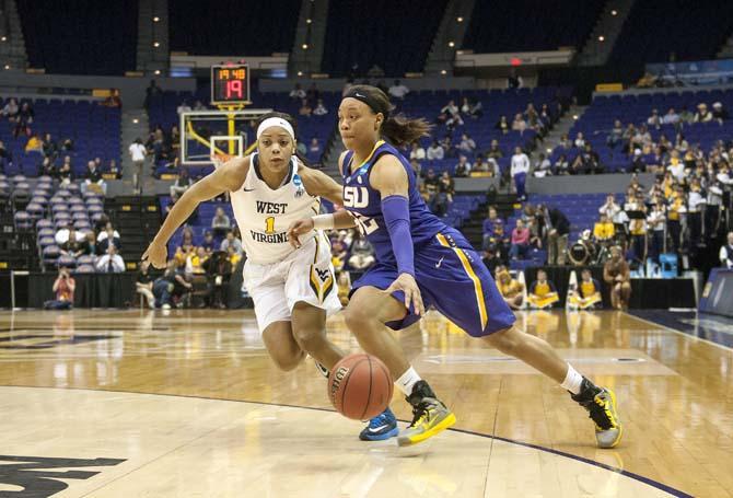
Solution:
M 281 262 L 258 265 L 247 260 L 244 285 L 255 302 L 259 332 L 274 322 L 290 322 L 299 301 L 326 310 L 327 315 L 341 309 L 330 244 L 322 232 Z

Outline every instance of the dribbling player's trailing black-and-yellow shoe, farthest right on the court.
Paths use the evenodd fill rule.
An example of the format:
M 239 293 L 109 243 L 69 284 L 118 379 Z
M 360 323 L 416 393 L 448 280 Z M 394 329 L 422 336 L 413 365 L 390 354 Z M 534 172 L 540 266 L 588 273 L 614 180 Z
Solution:
M 624 426 L 616 412 L 616 395 L 607 387 L 597 387 L 583 379 L 581 392 L 571 397 L 585 408 L 595 424 L 598 448 L 615 448 L 624 435 Z

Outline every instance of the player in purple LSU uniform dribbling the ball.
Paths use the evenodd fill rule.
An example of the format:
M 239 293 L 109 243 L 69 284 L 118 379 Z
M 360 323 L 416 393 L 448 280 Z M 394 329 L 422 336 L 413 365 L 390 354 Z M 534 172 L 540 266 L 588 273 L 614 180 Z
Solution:
M 618 444 L 623 430 L 614 393 L 578 373 L 545 340 L 516 328 L 480 256 L 461 232 L 428 210 L 409 162 L 394 146 L 428 136 L 430 126 L 423 119 L 391 116 L 392 108 L 387 95 L 374 86 L 356 85 L 347 92 L 338 109 L 348 149 L 339 158 L 346 210 L 296 221 L 289 233 L 296 245 L 298 236 L 314 228 L 356 225 L 374 246 L 376 264 L 354 282 L 345 319 L 361 347 L 386 363 L 412 405 L 412 421 L 398 443 L 418 443 L 455 424 L 386 328 L 417 322 L 426 304 L 432 304 L 470 336 L 558 382 L 590 413 L 598 447 Z M 379 417 L 372 424 L 381 424 Z

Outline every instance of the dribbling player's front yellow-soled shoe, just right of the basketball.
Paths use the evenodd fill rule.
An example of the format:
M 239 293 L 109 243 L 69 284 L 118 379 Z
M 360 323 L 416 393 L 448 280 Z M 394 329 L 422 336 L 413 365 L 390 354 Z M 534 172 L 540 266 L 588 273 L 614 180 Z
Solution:
M 432 438 L 455 424 L 455 415 L 435 397 L 426 381 L 418 381 L 407 396 L 412 405 L 412 421 L 397 437 L 397 444 L 409 447 Z

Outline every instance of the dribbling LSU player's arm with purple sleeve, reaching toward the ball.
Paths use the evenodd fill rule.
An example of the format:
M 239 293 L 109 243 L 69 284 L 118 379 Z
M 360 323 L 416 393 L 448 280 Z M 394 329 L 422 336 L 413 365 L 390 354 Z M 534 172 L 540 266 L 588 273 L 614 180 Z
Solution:
M 397 260 L 397 279 L 385 290 L 405 292 L 405 308 L 410 304 L 416 314 L 424 313 L 422 296 L 415 280 L 415 252 L 410 233 L 409 179 L 402 163 L 394 155 L 383 155 L 370 177 L 372 187 L 382 196 L 382 216 L 386 224 L 392 251 Z

